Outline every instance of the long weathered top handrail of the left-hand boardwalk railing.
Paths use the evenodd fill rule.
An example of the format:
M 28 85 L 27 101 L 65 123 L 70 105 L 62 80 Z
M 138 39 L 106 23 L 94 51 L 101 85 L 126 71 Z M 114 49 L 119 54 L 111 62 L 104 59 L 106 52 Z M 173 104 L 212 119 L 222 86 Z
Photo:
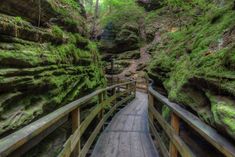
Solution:
M 64 107 L 57 109 L 56 111 L 48 114 L 47 116 L 31 123 L 30 125 L 16 131 L 15 133 L 3 138 L 0 140 L 0 156 L 6 157 L 24 144 L 28 143 L 31 139 L 39 136 L 39 134 L 43 133 L 46 129 L 55 125 L 58 121 L 60 121 L 63 117 L 67 116 L 70 112 L 75 110 L 76 108 L 80 108 L 86 102 L 91 100 L 94 96 L 97 96 L 99 93 L 102 93 L 107 90 L 111 90 L 115 87 L 125 86 L 126 84 L 130 84 L 134 81 L 129 81 L 125 83 L 120 83 L 117 85 L 113 85 L 104 89 L 99 89 L 85 97 L 82 97 Z

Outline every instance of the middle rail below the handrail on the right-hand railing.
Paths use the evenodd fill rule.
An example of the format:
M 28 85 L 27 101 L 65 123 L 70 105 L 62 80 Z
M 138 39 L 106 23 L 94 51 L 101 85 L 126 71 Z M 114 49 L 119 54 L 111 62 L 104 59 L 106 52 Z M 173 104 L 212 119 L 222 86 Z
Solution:
M 190 150 L 190 148 L 184 143 L 184 141 L 175 133 L 173 128 L 163 119 L 161 114 L 153 107 L 149 106 L 150 111 L 155 117 L 155 119 L 159 122 L 161 127 L 164 129 L 168 137 L 171 139 L 171 142 L 176 146 L 177 150 L 181 154 L 182 157 L 195 157 L 195 154 Z

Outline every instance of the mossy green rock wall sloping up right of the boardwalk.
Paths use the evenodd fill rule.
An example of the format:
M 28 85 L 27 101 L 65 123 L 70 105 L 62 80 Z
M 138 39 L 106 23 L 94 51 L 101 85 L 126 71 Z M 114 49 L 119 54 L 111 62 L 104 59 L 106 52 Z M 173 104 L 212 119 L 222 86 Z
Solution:
M 149 47 L 153 59 L 148 73 L 172 101 L 184 105 L 235 140 L 235 12 L 232 8 L 232 1 L 228 1 L 195 19 L 181 12 L 185 22 L 182 26 L 169 8 L 158 11 L 151 22 L 158 29 Z M 198 12 L 192 11 L 195 15 Z

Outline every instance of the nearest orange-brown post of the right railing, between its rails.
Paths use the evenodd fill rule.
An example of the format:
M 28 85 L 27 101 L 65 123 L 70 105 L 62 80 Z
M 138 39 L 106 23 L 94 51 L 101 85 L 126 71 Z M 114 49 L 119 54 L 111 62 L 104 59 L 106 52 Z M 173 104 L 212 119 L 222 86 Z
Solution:
M 180 119 L 175 113 L 171 113 L 171 127 L 177 135 L 180 132 Z M 170 143 L 170 157 L 178 157 L 178 150 L 173 142 Z

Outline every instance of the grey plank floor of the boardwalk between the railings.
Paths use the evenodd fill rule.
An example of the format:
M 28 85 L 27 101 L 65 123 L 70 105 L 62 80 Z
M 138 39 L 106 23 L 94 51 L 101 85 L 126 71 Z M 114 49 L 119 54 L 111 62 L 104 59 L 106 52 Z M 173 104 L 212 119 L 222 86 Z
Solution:
M 101 134 L 92 157 L 158 157 L 148 131 L 148 98 L 136 98 L 119 113 Z

